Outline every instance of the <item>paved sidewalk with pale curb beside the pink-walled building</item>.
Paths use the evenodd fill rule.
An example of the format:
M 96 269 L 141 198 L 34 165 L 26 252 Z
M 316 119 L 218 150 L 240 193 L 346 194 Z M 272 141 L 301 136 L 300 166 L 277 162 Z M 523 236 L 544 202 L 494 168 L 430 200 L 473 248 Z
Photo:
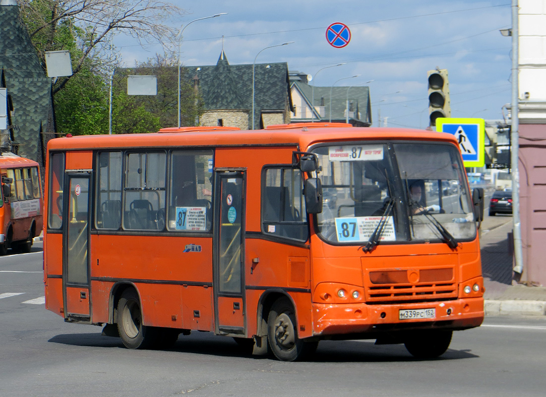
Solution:
M 546 315 L 546 287 L 526 286 L 512 282 L 512 250 L 507 223 L 482 230 L 482 271 L 485 287 L 485 315 Z

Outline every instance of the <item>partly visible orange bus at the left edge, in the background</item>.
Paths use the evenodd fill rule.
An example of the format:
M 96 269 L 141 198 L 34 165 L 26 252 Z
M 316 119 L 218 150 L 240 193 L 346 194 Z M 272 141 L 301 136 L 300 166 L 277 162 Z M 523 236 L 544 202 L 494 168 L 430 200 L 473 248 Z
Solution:
M 0 155 L 0 255 L 9 248 L 30 252 L 43 228 L 39 164 L 31 159 Z

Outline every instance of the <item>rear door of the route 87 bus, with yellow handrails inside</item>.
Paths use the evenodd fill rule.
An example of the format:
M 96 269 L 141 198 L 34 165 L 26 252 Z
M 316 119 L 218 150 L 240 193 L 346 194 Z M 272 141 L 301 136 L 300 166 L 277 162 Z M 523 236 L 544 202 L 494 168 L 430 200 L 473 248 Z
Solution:
M 88 322 L 89 285 L 89 199 L 90 173 L 68 174 L 63 219 L 64 318 Z

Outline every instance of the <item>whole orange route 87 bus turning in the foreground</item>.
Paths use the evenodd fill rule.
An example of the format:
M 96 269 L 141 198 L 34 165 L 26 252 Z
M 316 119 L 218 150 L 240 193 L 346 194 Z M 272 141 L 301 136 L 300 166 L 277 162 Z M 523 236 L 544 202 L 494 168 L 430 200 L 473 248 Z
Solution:
M 483 210 L 452 135 L 165 128 L 47 156 L 46 307 L 128 348 L 199 330 L 287 361 L 322 339 L 430 358 L 483 321 Z

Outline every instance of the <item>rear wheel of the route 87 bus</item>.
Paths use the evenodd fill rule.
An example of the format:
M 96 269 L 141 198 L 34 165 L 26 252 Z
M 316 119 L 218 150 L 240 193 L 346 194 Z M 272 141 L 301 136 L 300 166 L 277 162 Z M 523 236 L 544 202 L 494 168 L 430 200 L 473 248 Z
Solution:
M 128 349 L 145 349 L 154 342 L 154 329 L 142 324 L 140 299 L 132 288 L 123 291 L 117 304 L 117 330 Z

